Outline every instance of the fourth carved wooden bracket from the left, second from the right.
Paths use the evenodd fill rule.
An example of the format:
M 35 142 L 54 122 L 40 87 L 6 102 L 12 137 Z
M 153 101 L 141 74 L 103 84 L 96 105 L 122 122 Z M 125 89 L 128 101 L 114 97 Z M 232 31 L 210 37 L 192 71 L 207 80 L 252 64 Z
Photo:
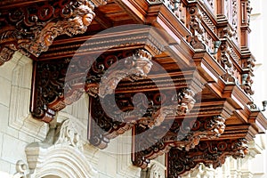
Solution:
M 153 129 L 135 125 L 133 164 L 145 168 L 151 159 L 168 152 L 171 148 L 189 151 L 194 149 L 200 139 L 214 139 L 223 134 L 223 117 L 198 117 L 166 120 Z

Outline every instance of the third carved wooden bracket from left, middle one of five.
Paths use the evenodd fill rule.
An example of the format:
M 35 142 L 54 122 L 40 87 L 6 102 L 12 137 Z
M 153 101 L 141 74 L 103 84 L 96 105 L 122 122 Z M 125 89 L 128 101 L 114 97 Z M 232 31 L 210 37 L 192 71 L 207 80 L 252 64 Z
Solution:
M 192 109 L 195 102 L 194 94 L 189 89 L 182 89 L 175 93 L 176 98 L 171 97 L 174 99 L 171 101 L 165 101 L 170 93 L 142 94 L 145 95 L 118 93 L 115 95 L 116 103 L 112 102 L 113 99 L 107 99 L 109 96 L 103 99 L 91 97 L 89 141 L 94 146 L 104 149 L 108 146 L 109 139 L 115 138 L 118 134 L 124 134 L 134 124 L 151 129 L 161 125 L 167 116 L 184 116 Z

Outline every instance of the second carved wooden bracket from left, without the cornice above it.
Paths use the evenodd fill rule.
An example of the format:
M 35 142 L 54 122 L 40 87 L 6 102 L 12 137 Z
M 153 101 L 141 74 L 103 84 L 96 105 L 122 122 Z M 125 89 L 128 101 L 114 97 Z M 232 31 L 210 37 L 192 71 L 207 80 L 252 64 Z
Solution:
M 33 116 L 50 122 L 56 111 L 79 100 L 83 93 L 104 97 L 114 93 L 124 78 L 133 81 L 146 77 L 152 65 L 150 53 L 144 50 L 133 53 L 102 54 L 96 61 L 93 56 L 84 56 L 36 63 Z

